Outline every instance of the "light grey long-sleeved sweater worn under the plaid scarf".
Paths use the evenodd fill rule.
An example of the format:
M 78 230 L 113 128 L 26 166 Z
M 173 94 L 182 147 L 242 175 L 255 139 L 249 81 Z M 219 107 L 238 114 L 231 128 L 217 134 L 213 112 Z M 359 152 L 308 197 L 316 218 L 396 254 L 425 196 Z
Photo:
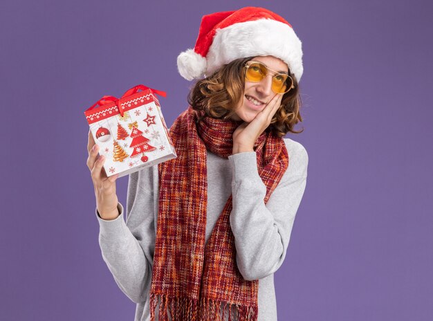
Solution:
M 257 172 L 255 152 L 234 154 L 228 159 L 208 152 L 205 241 L 232 193 L 230 226 L 235 239 L 237 266 L 244 279 L 259 279 L 259 321 L 277 320 L 274 273 L 286 257 L 293 221 L 306 187 L 306 150 L 294 140 L 285 138 L 284 142 L 289 157 L 288 169 L 266 205 L 266 187 Z M 148 295 L 158 196 L 158 165 L 154 165 L 129 175 L 126 223 L 120 203 L 117 219 L 101 219 L 96 211 L 102 257 L 120 289 L 136 302 L 135 321 L 150 320 Z

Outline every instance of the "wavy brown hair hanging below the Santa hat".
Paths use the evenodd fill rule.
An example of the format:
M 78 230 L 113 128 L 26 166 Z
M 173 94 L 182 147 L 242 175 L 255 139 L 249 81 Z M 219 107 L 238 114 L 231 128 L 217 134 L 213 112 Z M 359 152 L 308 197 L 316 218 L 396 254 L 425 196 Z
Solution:
M 245 89 L 245 75 L 243 66 L 252 57 L 236 59 L 222 66 L 218 71 L 199 80 L 188 95 L 188 103 L 196 111 L 205 111 L 212 118 L 230 118 L 234 108 L 243 96 Z M 291 72 L 289 71 L 289 74 Z M 279 137 L 286 135 L 289 131 L 299 134 L 304 131 L 295 131 L 293 127 L 302 122 L 300 114 L 301 98 L 299 85 L 295 75 L 291 74 L 295 88 L 285 93 L 282 98 L 281 107 L 270 121 L 268 131 Z

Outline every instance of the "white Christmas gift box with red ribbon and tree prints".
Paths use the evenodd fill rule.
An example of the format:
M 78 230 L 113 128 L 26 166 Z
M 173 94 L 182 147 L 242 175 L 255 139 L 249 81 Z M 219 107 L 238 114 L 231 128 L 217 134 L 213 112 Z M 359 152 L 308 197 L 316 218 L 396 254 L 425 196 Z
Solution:
M 165 92 L 134 86 L 118 99 L 104 96 L 84 112 L 107 176 L 119 177 L 176 158 L 172 139 L 156 94 Z

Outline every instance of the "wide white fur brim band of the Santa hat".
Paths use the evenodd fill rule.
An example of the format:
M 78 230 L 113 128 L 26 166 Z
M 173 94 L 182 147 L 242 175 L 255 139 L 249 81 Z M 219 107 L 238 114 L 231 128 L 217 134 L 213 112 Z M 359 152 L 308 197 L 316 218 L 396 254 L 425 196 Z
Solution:
M 205 74 L 211 75 L 234 59 L 266 55 L 282 59 L 300 81 L 304 71 L 302 43 L 293 28 L 273 19 L 239 22 L 216 30 Z

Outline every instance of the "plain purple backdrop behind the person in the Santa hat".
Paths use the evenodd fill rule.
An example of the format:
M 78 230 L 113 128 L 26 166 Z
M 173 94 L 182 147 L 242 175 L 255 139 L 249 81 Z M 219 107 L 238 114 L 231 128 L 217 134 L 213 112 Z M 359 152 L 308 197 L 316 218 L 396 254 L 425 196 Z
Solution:
M 191 86 L 178 53 L 202 15 L 242 6 L 278 12 L 304 48 L 305 131 L 288 137 L 308 180 L 279 320 L 432 320 L 427 0 L 1 1 L 0 320 L 133 320 L 100 255 L 83 112 L 147 84 L 172 125 Z

